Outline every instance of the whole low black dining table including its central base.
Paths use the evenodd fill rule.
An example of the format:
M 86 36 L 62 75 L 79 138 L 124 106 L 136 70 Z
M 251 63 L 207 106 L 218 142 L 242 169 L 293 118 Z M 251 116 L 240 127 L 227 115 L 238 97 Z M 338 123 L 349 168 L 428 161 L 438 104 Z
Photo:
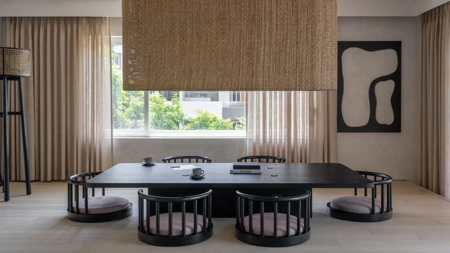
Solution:
M 89 188 L 147 188 L 151 195 L 186 196 L 213 189 L 213 216 L 234 217 L 235 194 L 300 195 L 313 188 L 372 188 L 373 182 L 338 163 L 261 163 L 261 174 L 230 173 L 233 163 L 193 164 L 204 170 L 202 179 L 190 179 L 189 170 L 168 163 L 144 166 L 117 164 L 87 181 Z M 271 169 L 269 169 L 271 168 Z M 276 175 L 276 176 L 270 176 Z M 136 192 L 137 194 L 137 192 Z M 312 205 L 310 205 L 312 206 Z

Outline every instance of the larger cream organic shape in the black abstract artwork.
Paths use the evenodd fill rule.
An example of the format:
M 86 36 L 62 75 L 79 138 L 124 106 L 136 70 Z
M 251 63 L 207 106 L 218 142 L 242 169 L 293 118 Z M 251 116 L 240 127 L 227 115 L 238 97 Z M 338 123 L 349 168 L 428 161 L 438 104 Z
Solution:
M 342 117 L 345 124 L 350 127 L 359 127 L 369 122 L 370 83 L 378 77 L 392 74 L 396 71 L 397 65 L 397 53 L 394 49 L 371 52 L 353 47 L 342 53 L 344 78 Z M 384 115 L 380 117 L 385 120 Z

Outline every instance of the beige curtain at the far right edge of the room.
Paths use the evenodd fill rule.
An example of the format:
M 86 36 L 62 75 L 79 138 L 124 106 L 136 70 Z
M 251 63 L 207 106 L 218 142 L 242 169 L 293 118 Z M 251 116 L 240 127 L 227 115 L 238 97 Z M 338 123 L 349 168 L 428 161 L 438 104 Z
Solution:
M 450 3 L 422 15 L 419 183 L 450 199 Z

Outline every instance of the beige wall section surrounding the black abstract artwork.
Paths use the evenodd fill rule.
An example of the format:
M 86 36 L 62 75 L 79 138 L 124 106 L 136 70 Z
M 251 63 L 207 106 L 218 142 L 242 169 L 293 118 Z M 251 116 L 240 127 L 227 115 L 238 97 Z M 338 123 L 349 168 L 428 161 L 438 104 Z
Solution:
M 419 17 L 339 17 L 338 40 L 401 40 L 401 133 L 338 133 L 338 160 L 417 182 L 419 154 Z

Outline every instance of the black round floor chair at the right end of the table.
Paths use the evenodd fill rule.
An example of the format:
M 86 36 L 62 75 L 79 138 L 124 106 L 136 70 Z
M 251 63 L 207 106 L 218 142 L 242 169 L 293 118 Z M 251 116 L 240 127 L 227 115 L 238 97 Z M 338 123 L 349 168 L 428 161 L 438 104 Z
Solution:
M 327 204 L 327 213 L 335 218 L 353 222 L 381 222 L 392 217 L 392 178 L 386 174 L 357 171 L 361 175 L 373 177 L 374 187 L 371 196 L 355 195 L 342 196 L 331 200 Z M 377 186 L 381 187 L 380 199 L 377 198 Z M 386 186 L 386 190 L 385 190 Z

